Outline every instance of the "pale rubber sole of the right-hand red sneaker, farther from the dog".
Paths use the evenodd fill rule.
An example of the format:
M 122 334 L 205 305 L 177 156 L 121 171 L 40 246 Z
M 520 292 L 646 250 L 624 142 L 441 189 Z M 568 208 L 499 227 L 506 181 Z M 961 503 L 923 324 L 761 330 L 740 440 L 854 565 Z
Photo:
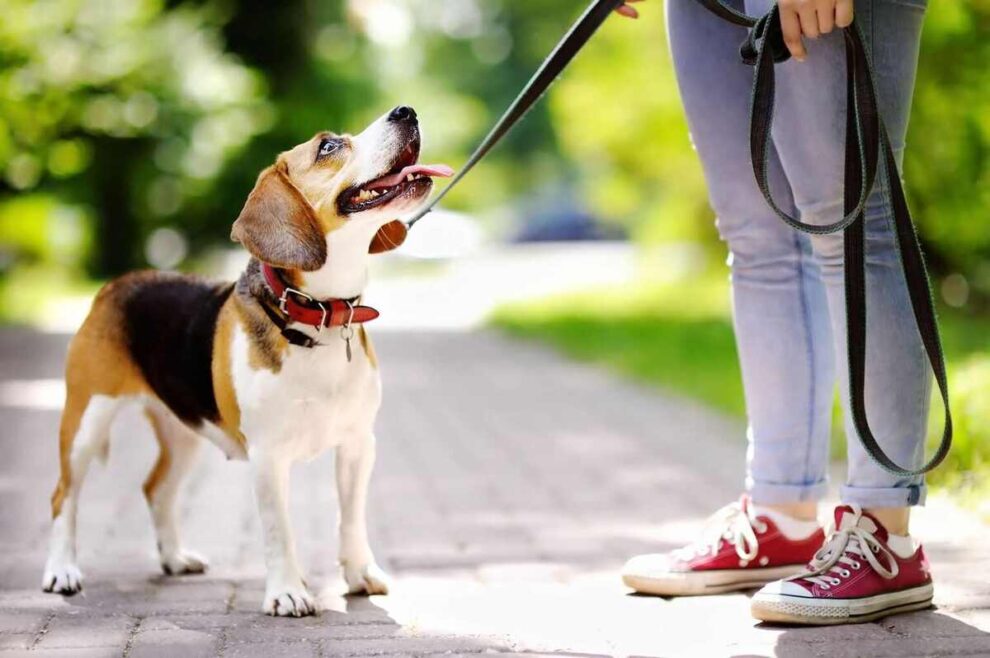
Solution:
M 811 599 L 786 594 L 753 597 L 751 611 L 760 621 L 825 626 L 859 624 L 881 617 L 924 610 L 932 605 L 931 583 L 861 599 Z

